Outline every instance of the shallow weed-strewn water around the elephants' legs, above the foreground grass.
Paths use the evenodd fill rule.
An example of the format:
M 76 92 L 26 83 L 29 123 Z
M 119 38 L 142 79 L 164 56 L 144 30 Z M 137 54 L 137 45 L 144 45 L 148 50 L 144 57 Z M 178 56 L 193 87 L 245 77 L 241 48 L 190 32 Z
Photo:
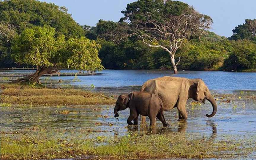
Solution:
M 205 114 L 212 112 L 209 102 L 205 105 L 192 105 L 188 101 L 188 121 L 181 123 L 177 121 L 177 109 L 164 111 L 165 119 L 170 126 L 162 128 L 160 121 L 157 121 L 157 134 L 165 132 L 200 132 L 212 136 L 217 134 L 256 134 L 256 92 L 247 92 L 240 95 L 218 94 L 218 112 L 212 118 Z M 225 97 L 223 100 L 221 98 Z M 241 97 L 241 99 L 239 99 Z M 251 98 L 251 99 L 249 99 Z M 254 99 L 253 99 L 254 98 Z M 226 100 L 230 103 L 225 103 Z M 236 108 L 235 108 L 236 106 Z M 123 136 L 129 131 L 137 130 L 140 127 L 128 127 L 126 120 L 129 116 L 129 109 L 119 111 L 118 119 L 114 118 L 113 105 L 100 106 L 74 106 L 74 107 L 2 107 L 1 108 L 1 132 L 19 130 L 24 127 L 47 127 L 48 129 L 92 129 L 100 131 L 98 135 Z M 61 114 L 61 111 L 68 110 L 69 114 Z M 105 117 L 104 117 L 105 116 Z M 147 119 L 149 124 L 149 119 Z M 97 124 L 99 123 L 99 124 Z M 101 124 L 103 123 L 103 124 Z M 147 128 L 146 128 L 147 129 Z

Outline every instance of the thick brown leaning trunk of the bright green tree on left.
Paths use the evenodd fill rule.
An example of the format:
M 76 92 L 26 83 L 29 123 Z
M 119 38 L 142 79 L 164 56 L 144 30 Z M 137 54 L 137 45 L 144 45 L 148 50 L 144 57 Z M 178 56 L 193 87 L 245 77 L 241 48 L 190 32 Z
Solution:
M 44 74 L 53 74 L 56 73 L 57 69 L 54 67 L 42 67 L 37 69 L 35 73 L 28 75 L 24 78 L 19 78 L 17 80 L 12 81 L 11 83 L 22 83 L 22 82 L 29 82 L 34 84 L 35 82 L 40 84 L 39 78 Z

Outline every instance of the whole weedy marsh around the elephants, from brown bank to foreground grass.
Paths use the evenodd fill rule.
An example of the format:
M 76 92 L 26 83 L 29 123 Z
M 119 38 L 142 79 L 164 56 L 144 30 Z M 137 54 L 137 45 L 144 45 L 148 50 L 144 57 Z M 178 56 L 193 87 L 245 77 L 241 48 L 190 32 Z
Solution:
M 50 103 L 42 103 L 40 95 Z M 210 103 L 189 101 L 187 123 L 178 122 L 173 109 L 164 112 L 170 127 L 157 121 L 152 129 L 127 126 L 129 111 L 114 118 L 115 98 L 103 93 L 1 83 L 1 159 L 256 156 L 255 92 L 213 95 L 218 104 L 213 118 L 204 116 Z

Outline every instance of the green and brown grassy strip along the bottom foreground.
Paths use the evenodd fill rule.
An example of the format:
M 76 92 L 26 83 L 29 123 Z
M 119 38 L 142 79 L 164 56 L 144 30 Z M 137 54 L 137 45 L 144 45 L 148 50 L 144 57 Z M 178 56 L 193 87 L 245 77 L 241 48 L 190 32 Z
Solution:
M 1 137 L 1 159 L 51 159 L 97 155 L 103 159 L 137 158 L 231 158 L 255 150 L 255 136 L 237 141 L 204 139 L 201 135 L 172 133 L 166 135 L 129 134 L 120 138 L 44 139 L 22 136 Z M 193 138 L 188 138 L 193 137 Z M 242 145 L 243 143 L 243 145 Z

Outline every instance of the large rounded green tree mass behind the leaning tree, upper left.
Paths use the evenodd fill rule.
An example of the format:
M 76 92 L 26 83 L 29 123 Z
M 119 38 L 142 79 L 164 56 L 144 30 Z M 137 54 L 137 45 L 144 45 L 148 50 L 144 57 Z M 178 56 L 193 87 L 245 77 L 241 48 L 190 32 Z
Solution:
M 1 0 L 0 10 L 1 30 L 2 23 L 10 24 L 17 34 L 33 26 L 49 25 L 55 28 L 57 35 L 64 34 L 66 39 L 84 36 L 83 28 L 65 7 L 37 0 Z M 10 42 L 1 38 L 1 66 L 6 62 L 12 63 Z

